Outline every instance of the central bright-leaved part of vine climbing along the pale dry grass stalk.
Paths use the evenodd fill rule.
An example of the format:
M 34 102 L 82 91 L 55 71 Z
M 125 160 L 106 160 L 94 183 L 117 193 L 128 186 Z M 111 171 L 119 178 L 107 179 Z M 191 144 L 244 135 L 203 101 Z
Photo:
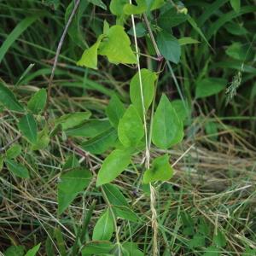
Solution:
M 160 76 L 160 67 L 164 58 L 166 61 L 172 61 L 177 64 L 181 54 L 180 43 L 171 32 L 156 27 L 154 32 L 157 35 L 156 40 L 154 39 L 154 32 L 147 18 L 147 16 L 150 16 L 151 11 L 160 9 L 165 5 L 167 3 L 163 0 L 137 0 L 137 5 L 125 0 L 112 0 L 109 9 L 113 15 L 116 15 L 116 24 L 111 26 L 105 20 L 102 34 L 98 36 L 95 44 L 84 50 L 81 59 L 77 62 L 81 67 L 97 69 L 98 55 L 102 55 L 107 57 L 108 61 L 113 65 L 125 64 L 137 67 L 137 73 L 134 74 L 130 81 L 131 104 L 125 106 L 118 96 L 113 95 L 106 109 L 106 115 L 112 125 L 109 131 L 113 137 L 106 138 L 104 143 L 107 143 L 108 146 L 111 145 L 113 151 L 103 160 L 102 166 L 97 172 L 96 187 L 102 189 L 103 197 L 108 207 L 98 219 L 92 239 L 94 241 L 109 241 L 113 232 L 116 232 L 116 245 L 113 245 L 112 250 L 108 248 L 105 251 L 102 248 L 102 253 L 107 253 L 108 251 L 108 253 L 115 252 L 117 255 L 126 255 L 125 248 L 119 241 L 116 218 L 137 221 L 137 217 L 123 196 L 121 197 L 122 202 L 119 202 L 118 205 L 109 200 L 108 189 L 115 189 L 113 194 L 118 193 L 116 197 L 121 196 L 121 192 L 113 182 L 122 172 L 125 172 L 126 168 L 131 166 L 134 157 L 139 154 L 144 162 L 141 168 L 143 175 L 140 183 L 148 185 L 150 191 L 151 220 L 154 230 L 152 254 L 159 254 L 157 245 L 157 212 L 154 207 L 156 196 L 154 183 L 172 178 L 173 170 L 168 154 L 155 158 L 151 157 L 151 143 L 156 148 L 166 150 L 183 140 L 183 120 L 177 115 L 172 102 L 169 101 L 165 94 L 160 96 L 159 102 L 156 100 L 157 80 Z M 170 7 L 170 3 L 168 5 Z M 186 18 L 183 12 L 178 13 L 176 10 L 176 14 L 181 15 L 180 17 L 183 20 Z M 140 49 L 138 49 L 137 33 L 139 33 L 138 24 L 142 26 L 143 23 L 136 24 L 134 15 L 138 15 L 138 18 L 143 17 L 142 20 L 145 26 L 148 26 L 148 32 L 145 31 L 143 36 L 150 39 L 151 41 L 148 40 L 148 44 L 154 47 L 153 55 L 156 55 L 155 61 L 158 61 L 159 67 L 157 71 L 141 68 L 141 53 Z M 130 32 L 133 38 L 130 38 L 125 30 L 130 18 Z M 134 45 L 132 44 L 132 39 L 134 39 Z M 106 135 L 108 136 L 108 134 Z M 96 140 L 85 143 L 84 149 L 90 151 L 91 143 L 96 143 Z M 92 152 L 95 152 L 95 150 L 93 148 Z M 102 226 L 105 228 L 102 229 Z M 83 252 L 86 252 L 86 250 L 88 250 L 88 247 L 85 246 Z M 135 254 L 131 254 L 131 251 L 129 252 L 128 250 L 127 255 Z M 141 253 L 138 252 L 136 255 L 141 255 Z

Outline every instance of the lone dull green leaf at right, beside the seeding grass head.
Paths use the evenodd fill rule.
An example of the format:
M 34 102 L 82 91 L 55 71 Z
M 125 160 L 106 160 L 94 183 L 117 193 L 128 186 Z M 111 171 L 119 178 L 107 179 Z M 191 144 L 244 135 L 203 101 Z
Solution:
M 201 79 L 196 83 L 195 96 L 196 98 L 205 98 L 218 94 L 221 90 L 224 90 L 226 84 L 227 81 L 225 79 Z

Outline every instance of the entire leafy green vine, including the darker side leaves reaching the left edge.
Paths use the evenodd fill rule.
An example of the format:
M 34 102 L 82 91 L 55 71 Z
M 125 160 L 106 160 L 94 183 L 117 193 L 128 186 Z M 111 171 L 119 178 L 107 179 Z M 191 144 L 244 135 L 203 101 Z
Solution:
M 90 2 L 105 9 L 102 1 Z M 67 11 L 70 12 L 70 9 L 68 8 Z M 137 4 L 132 4 L 128 0 L 112 0 L 109 9 L 116 17 L 115 24 L 104 21 L 102 34 L 96 38 L 94 44 L 84 49 L 77 65 L 97 69 L 98 56 L 101 55 L 112 65 L 132 66 L 132 70 L 137 71 L 130 80 L 130 105 L 125 105 L 119 96 L 114 94 L 106 108 L 105 120 L 90 120 L 89 111 L 65 113 L 55 118 L 47 114 L 49 95 L 45 89 L 38 90 L 25 106 L 3 82 L 0 83 L 0 102 L 4 108 L 16 114 L 19 131 L 16 141 L 22 137 L 31 151 L 47 148 L 51 138 L 57 134 L 61 134 L 64 141 L 68 137 L 89 137 L 79 146 L 90 154 L 103 154 L 109 148 L 113 149 L 103 160 L 98 172 L 91 173 L 91 170 L 82 166 L 74 155 L 68 157 L 61 168 L 57 185 L 58 216 L 67 210 L 72 201 L 90 183 L 93 183 L 95 176 L 96 188 L 106 202 L 106 209 L 96 221 L 91 241 L 86 242 L 81 250 L 83 255 L 99 253 L 143 255 L 136 243 L 119 241 L 117 219 L 135 223 L 141 223 L 141 219 L 132 210 L 119 186 L 114 184 L 114 180 L 119 178 L 122 172 L 134 166 L 135 158 L 141 157 L 143 166 L 139 170 L 141 178 L 137 187 L 144 185 L 150 191 L 152 254 L 158 255 L 154 183 L 172 178 L 173 170 L 169 154 L 152 157 L 152 145 L 165 151 L 180 143 L 183 140 L 183 119 L 177 114 L 178 104 L 172 104 L 165 94 L 159 99 L 157 81 L 161 67 L 166 61 L 174 64 L 179 62 L 181 45 L 196 42 L 192 38 L 175 38 L 170 29 L 168 31 L 164 16 L 160 26 L 154 23 L 152 18 L 153 11 L 164 13 L 171 11 L 177 18 L 173 21 L 177 25 L 188 19 L 183 6 L 174 7 L 172 3 L 164 0 L 137 0 Z M 139 22 L 135 22 L 134 15 L 140 19 Z M 147 52 L 143 53 L 143 50 L 139 49 L 138 38 L 146 39 Z M 158 68 L 156 70 L 142 68 L 141 55 L 156 61 Z M 4 164 L 15 177 L 30 178 L 31 171 L 20 156 L 22 148 L 19 143 L 10 144 L 8 148 L 3 148 L 1 153 L 3 153 L 0 157 L 1 168 Z M 90 208 L 89 217 L 92 212 L 93 207 Z M 78 242 L 84 243 L 84 230 L 87 226 L 88 223 L 84 224 L 80 230 L 73 245 L 73 255 L 78 252 Z M 113 233 L 115 233 L 115 241 L 112 240 Z

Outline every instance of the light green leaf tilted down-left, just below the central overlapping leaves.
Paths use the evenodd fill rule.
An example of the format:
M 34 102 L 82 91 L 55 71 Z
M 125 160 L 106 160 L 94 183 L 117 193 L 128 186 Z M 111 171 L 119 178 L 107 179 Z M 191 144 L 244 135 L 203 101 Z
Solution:
M 103 161 L 102 167 L 98 173 L 96 186 L 101 186 L 112 182 L 119 174 L 125 171 L 125 168 L 131 161 L 131 154 L 128 150 L 115 149 Z

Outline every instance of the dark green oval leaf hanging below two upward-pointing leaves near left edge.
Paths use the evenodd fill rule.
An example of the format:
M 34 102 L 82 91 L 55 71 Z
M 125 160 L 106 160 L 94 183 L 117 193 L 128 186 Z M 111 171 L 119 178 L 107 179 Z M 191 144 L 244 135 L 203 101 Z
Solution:
M 22 135 L 26 137 L 26 139 L 30 143 L 32 144 L 37 143 L 38 125 L 31 113 L 27 113 L 20 119 L 18 127 Z

